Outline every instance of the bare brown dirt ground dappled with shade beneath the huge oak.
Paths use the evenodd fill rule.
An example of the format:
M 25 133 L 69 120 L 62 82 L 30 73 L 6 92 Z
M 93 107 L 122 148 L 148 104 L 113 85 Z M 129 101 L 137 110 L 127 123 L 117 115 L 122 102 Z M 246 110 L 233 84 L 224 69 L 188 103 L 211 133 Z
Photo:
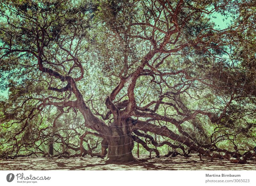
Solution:
M 211 162 L 208 157 L 200 161 L 197 155 L 189 158 L 140 158 L 143 158 L 140 162 L 113 165 L 90 156 L 69 159 L 26 157 L 0 160 L 0 170 L 256 170 L 255 158 L 248 164 L 233 164 L 219 159 Z

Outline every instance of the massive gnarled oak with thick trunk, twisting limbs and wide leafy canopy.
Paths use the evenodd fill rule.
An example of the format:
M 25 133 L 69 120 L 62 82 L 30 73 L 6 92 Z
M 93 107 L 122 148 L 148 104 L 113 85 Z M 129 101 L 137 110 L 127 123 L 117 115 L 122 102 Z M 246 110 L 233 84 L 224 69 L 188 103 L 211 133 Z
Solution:
M 255 156 L 255 1 L 0 6 L 1 158 Z

